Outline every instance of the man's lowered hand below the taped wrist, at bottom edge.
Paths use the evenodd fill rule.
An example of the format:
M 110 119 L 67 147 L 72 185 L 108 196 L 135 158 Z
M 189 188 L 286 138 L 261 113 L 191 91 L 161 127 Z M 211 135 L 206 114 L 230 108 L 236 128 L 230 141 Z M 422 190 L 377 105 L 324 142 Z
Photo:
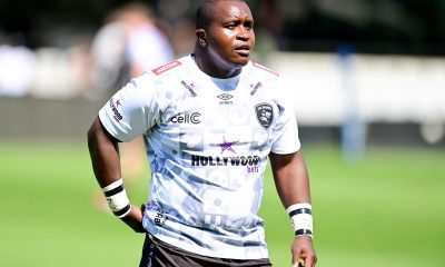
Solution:
M 291 245 L 293 267 L 315 267 L 317 255 L 313 246 L 313 238 L 298 236 Z M 304 264 L 303 264 L 303 263 Z

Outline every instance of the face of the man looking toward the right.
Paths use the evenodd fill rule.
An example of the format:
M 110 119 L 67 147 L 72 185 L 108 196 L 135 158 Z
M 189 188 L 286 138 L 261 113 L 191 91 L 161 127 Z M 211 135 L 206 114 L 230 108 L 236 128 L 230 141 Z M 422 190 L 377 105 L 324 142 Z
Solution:
M 221 68 L 248 63 L 255 46 L 254 18 L 245 2 L 219 1 L 206 30 L 207 49 Z

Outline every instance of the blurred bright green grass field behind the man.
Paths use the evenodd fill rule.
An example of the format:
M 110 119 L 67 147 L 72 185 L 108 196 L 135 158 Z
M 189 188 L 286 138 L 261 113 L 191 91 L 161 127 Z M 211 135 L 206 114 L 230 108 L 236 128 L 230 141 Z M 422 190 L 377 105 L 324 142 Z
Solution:
M 445 151 L 372 148 L 345 165 L 305 147 L 318 267 L 445 266 Z M 137 266 L 144 237 L 91 205 L 86 144 L 0 142 L 0 266 Z M 291 231 L 266 176 L 261 215 L 274 266 L 290 266 Z M 148 179 L 127 186 L 146 199 Z

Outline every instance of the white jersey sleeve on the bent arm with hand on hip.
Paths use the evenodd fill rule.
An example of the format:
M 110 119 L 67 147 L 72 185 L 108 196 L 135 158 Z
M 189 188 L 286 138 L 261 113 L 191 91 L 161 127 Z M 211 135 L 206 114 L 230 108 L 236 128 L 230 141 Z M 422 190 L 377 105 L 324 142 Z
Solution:
M 131 80 L 99 110 L 107 131 L 120 141 L 145 134 L 159 117 L 155 83 L 149 75 Z

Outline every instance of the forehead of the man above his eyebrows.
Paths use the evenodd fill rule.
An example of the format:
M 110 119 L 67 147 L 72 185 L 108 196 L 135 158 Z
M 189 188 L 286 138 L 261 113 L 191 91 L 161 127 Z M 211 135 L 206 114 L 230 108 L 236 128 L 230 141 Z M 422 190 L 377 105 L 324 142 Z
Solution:
M 212 10 L 214 20 L 253 19 L 249 7 L 243 1 L 217 1 Z

